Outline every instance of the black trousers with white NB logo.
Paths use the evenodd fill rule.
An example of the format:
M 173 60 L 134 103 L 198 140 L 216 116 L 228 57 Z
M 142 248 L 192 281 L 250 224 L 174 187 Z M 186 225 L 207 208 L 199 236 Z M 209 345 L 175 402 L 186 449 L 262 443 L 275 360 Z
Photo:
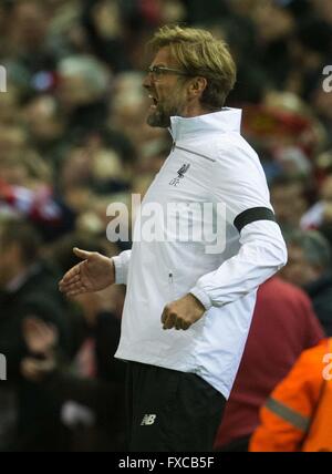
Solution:
M 211 452 L 225 404 L 194 373 L 128 362 L 128 450 Z

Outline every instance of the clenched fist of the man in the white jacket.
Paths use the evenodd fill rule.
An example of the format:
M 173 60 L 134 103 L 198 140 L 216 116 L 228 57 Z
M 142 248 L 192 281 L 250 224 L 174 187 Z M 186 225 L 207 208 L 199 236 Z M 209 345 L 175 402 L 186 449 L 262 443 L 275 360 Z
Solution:
M 185 297 L 166 305 L 162 315 L 164 329 L 183 329 L 184 331 L 190 328 L 194 322 L 198 321 L 206 309 L 194 295 L 189 293 Z

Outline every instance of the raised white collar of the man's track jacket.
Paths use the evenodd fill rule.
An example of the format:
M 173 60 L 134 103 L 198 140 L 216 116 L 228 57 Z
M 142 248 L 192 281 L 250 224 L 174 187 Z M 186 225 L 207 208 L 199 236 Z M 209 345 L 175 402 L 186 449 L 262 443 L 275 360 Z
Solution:
M 205 132 L 240 132 L 242 111 L 222 109 L 220 112 L 198 115 L 196 117 L 170 117 L 170 135 L 175 142 Z

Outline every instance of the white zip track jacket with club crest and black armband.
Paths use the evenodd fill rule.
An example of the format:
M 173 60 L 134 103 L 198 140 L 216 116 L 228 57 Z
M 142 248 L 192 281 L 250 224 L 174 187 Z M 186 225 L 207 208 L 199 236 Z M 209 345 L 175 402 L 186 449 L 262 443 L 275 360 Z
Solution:
M 172 117 L 173 150 L 143 199 L 136 241 L 132 250 L 114 258 L 116 282 L 127 286 L 115 357 L 194 372 L 226 399 L 248 337 L 257 289 L 287 261 L 262 167 L 241 137 L 240 123 L 241 111 L 235 109 Z M 188 219 L 186 206 L 203 209 L 208 203 L 215 206 L 212 217 L 193 213 Z M 139 238 L 142 228 L 156 230 L 151 224 L 156 204 L 154 221 L 167 215 L 173 230 L 167 227 L 164 240 Z M 169 204 L 185 207 L 176 213 Z M 218 216 L 224 226 L 216 227 Z M 208 251 L 211 234 L 206 238 L 200 233 L 211 221 L 222 243 L 217 253 Z M 201 237 L 186 238 L 187 228 L 189 237 L 195 233 Z M 187 331 L 164 330 L 165 305 L 188 292 L 205 306 L 204 317 Z

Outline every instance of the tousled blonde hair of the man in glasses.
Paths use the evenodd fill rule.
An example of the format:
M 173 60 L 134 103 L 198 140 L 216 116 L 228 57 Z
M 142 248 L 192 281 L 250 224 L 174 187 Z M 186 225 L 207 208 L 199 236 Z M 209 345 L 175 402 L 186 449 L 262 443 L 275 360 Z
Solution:
M 228 45 L 206 30 L 162 27 L 148 45 L 157 52 L 168 47 L 175 59 L 190 76 L 200 75 L 208 84 L 201 102 L 212 109 L 221 109 L 236 83 L 237 68 Z

